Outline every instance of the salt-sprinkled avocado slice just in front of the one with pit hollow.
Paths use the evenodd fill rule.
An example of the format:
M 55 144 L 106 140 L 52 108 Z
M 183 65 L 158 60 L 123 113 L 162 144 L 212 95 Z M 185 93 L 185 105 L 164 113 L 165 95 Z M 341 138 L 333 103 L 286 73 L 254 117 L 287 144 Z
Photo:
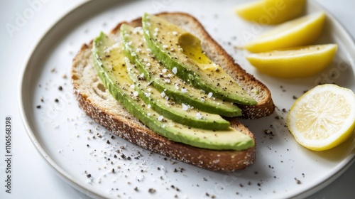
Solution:
M 143 41 L 141 27 L 133 28 L 123 24 L 121 26 L 121 40 L 124 44 L 125 55 L 138 66 L 138 70 L 144 73 L 153 87 L 160 92 L 164 91 L 175 102 L 185 103 L 200 111 L 226 117 L 241 116 L 241 109 L 233 103 L 217 99 L 212 96 L 212 92 L 206 93 L 195 89 L 160 64 Z

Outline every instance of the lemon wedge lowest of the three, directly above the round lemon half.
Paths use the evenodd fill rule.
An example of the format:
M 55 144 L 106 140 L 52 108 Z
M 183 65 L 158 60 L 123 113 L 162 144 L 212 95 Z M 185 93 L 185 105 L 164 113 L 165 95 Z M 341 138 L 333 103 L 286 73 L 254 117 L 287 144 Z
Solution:
M 332 63 L 337 44 L 308 45 L 247 55 L 251 65 L 273 77 L 295 78 L 315 75 Z

